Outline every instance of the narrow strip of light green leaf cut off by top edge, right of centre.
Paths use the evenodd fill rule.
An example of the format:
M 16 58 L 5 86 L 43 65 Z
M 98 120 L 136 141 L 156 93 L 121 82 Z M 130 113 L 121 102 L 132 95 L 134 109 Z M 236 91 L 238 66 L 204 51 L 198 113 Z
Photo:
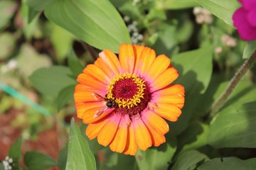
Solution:
M 156 1 L 156 8 L 161 9 L 183 9 L 192 8 L 193 6 L 198 6 L 196 0 L 164 0 Z

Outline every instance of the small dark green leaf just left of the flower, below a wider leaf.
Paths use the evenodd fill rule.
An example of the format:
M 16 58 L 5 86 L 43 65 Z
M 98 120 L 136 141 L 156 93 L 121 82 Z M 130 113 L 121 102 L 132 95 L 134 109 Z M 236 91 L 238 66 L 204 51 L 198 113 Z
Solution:
M 75 84 L 66 86 L 65 88 L 61 89 L 58 96 L 57 96 L 57 111 L 59 112 L 65 103 L 68 101 L 73 101 L 73 95 L 75 91 Z

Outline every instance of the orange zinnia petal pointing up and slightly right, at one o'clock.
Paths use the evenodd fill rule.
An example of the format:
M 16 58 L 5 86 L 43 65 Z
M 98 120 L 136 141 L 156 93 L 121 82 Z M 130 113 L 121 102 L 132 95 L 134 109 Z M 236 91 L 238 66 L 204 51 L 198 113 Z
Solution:
M 137 63 L 135 64 L 134 73 L 143 77 L 154 62 L 155 58 L 156 52 L 149 47 L 144 47 L 141 52 L 141 56 L 138 57 L 138 60 L 136 61 Z

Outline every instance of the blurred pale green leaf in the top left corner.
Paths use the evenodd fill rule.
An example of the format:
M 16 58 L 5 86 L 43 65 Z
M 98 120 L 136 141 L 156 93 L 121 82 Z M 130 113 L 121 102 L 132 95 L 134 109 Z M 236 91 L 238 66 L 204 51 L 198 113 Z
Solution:
M 9 23 L 17 8 L 15 1 L 0 1 L 0 30 Z

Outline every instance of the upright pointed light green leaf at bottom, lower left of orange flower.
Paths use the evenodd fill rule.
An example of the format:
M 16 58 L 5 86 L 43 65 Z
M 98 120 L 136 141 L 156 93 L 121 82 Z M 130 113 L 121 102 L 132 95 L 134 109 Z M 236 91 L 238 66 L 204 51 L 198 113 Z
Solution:
M 71 120 L 68 141 L 68 162 L 66 169 L 96 169 L 95 157 L 90 151 L 87 141 L 82 137 L 74 119 Z

